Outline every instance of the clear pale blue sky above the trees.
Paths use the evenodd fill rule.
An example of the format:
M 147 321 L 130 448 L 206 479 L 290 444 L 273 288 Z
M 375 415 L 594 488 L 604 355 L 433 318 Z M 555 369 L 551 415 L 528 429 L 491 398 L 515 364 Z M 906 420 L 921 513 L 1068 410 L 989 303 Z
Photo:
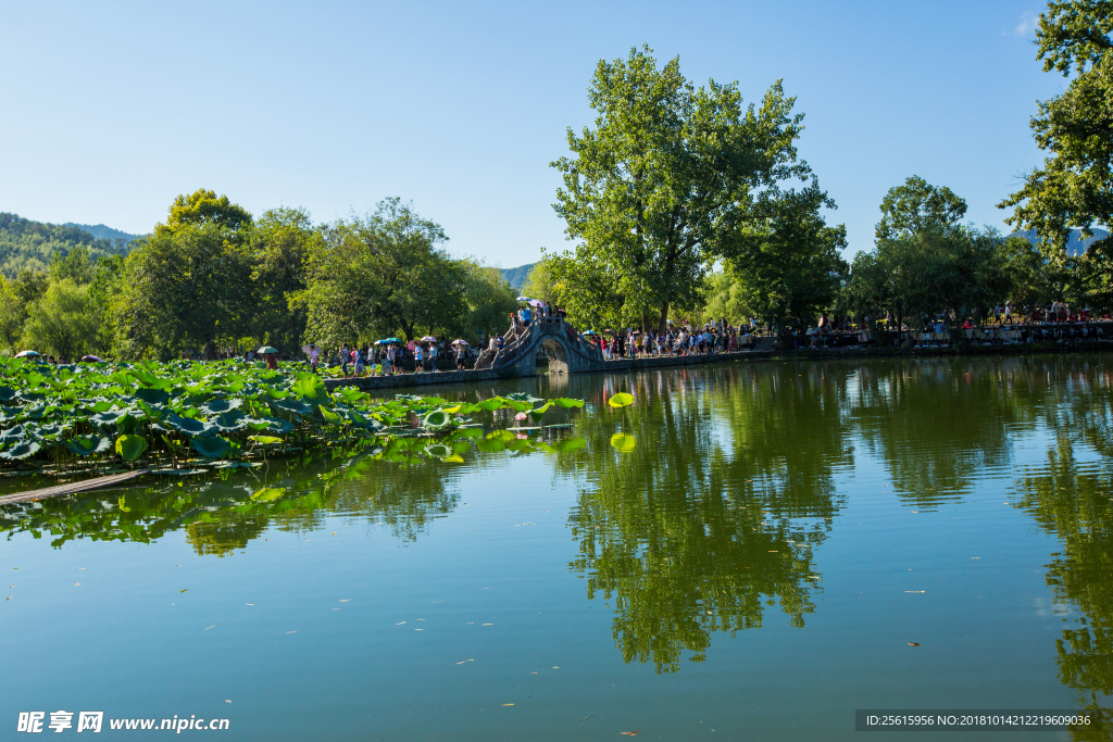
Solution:
M 778 78 L 799 142 L 873 247 L 909 175 L 968 218 L 1042 160 L 1028 119 L 1063 78 L 1035 60 L 1032 2 L 9 2 L 0 0 L 0 211 L 150 230 L 211 188 L 317 221 L 386 196 L 455 255 L 512 267 L 567 246 L 549 162 L 593 119 L 601 58 L 649 43 L 759 101 Z

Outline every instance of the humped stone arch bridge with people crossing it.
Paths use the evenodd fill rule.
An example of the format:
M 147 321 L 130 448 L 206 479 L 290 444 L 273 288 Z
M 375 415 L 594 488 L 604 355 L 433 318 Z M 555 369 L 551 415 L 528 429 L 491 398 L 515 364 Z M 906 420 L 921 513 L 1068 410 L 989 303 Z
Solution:
M 516 333 L 503 335 L 504 346 L 498 353 L 483 350 L 475 369 L 492 369 L 505 376 L 533 376 L 538 373 L 538 350 L 549 358 L 549 373 L 574 374 L 603 368 L 603 354 L 587 343 L 560 317 L 538 317 Z

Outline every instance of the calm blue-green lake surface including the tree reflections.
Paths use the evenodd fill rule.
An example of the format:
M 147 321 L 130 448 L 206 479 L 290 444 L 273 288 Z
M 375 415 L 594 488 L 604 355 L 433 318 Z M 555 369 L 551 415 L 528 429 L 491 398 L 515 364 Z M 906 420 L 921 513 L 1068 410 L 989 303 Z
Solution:
M 228 740 L 844 740 L 855 709 L 1109 713 L 1111 373 L 523 379 L 480 394 L 585 398 L 583 447 L 335 452 L 9 507 L 0 738 L 59 709 L 227 718 Z M 636 406 L 608 408 L 617 392 Z

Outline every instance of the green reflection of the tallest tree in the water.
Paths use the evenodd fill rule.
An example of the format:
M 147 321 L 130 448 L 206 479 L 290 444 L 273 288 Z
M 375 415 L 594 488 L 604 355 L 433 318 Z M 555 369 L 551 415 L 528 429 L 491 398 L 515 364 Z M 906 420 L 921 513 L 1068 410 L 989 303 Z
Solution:
M 782 394 L 796 372 L 806 388 Z M 702 375 L 628 380 L 594 402 L 605 410 L 604 396 L 629 392 L 636 407 L 580 423 L 588 446 L 569 517 L 580 552 L 571 566 L 589 597 L 613 600 L 626 661 L 674 672 L 684 652 L 705 659 L 712 632 L 758 627 L 777 604 L 804 626 L 820 590 L 812 547 L 838 509 L 831 471 L 850 461 L 846 374 L 735 367 L 715 376 L 713 395 Z M 630 453 L 608 445 L 620 429 L 640 442 Z

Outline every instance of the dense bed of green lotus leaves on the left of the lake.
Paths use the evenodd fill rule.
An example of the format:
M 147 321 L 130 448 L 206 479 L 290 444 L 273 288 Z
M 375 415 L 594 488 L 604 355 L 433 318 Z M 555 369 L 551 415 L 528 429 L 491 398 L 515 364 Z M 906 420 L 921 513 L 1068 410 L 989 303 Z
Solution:
M 391 461 L 424 454 L 459 463 L 469 438 L 480 448 L 546 448 L 514 433 L 540 425 L 514 423 L 540 423 L 553 405 L 583 406 L 524 393 L 474 404 L 405 394 L 375 399 L 351 386 L 329 394 L 315 374 L 242 363 L 51 366 L 17 358 L 0 359 L 0 473 L 16 475 L 76 476 L 135 463 L 158 474 L 199 474 L 198 466 L 256 467 L 268 456 L 334 445 Z M 514 414 L 503 425 L 510 431 L 484 433 L 470 417 L 498 410 Z M 492 425 L 500 418 L 508 422 L 495 415 Z M 565 439 L 556 448 L 577 445 Z

